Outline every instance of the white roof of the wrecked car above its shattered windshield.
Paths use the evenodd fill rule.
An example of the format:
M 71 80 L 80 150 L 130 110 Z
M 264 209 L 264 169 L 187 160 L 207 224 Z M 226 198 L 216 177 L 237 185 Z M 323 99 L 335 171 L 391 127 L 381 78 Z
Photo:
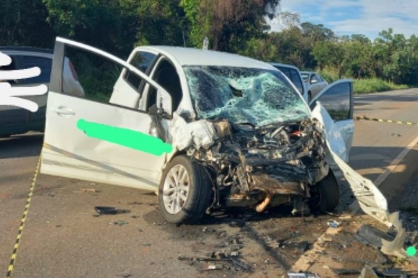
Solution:
M 180 65 L 204 65 L 204 66 L 231 66 L 231 67 L 253 67 L 267 70 L 276 70 L 268 63 L 261 60 L 231 54 L 221 51 L 203 50 L 190 47 L 170 46 L 144 46 L 135 50 L 158 51 L 164 56 L 176 60 Z

